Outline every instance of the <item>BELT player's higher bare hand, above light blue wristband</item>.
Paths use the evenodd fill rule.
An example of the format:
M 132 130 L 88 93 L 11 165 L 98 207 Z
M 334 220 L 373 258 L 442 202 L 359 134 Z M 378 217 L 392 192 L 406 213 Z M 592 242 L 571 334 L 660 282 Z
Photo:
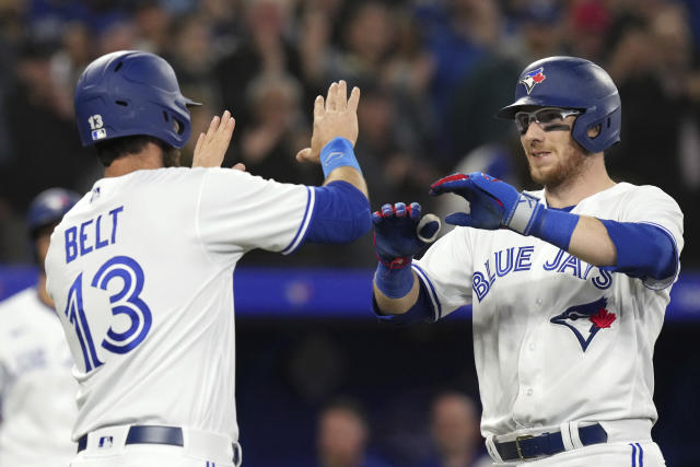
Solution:
M 358 104 L 360 89 L 353 87 L 348 98 L 347 83 L 340 81 L 328 87 L 324 101 L 317 96 L 314 102 L 314 132 L 311 148 L 296 153 L 299 162 L 319 163 L 320 150 L 334 138 L 345 138 L 354 145 L 358 140 Z

